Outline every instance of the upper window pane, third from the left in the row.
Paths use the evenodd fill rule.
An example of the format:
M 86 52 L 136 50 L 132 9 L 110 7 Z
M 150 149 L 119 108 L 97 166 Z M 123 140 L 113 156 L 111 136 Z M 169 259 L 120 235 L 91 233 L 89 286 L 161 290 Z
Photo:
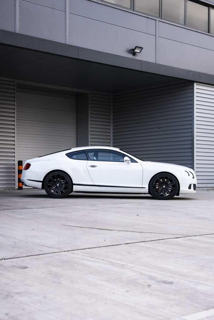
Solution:
M 185 0 L 162 0 L 162 19 L 184 24 Z

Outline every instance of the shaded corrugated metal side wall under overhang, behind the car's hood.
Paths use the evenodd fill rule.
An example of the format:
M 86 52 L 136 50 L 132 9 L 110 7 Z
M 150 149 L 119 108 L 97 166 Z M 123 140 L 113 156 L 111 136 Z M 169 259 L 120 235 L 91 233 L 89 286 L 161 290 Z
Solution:
M 193 167 L 193 84 L 114 96 L 114 147 Z

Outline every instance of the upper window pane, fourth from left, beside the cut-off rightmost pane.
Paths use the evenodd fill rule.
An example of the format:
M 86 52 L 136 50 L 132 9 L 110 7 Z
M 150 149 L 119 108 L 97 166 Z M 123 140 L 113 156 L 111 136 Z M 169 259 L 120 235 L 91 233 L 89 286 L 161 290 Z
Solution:
M 208 32 L 208 7 L 187 0 L 187 27 Z

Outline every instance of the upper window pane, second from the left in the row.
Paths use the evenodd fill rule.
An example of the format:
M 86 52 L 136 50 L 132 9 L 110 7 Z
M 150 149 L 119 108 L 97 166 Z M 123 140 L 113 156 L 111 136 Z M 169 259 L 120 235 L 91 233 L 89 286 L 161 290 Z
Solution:
M 159 17 L 160 0 L 135 0 L 135 10 Z

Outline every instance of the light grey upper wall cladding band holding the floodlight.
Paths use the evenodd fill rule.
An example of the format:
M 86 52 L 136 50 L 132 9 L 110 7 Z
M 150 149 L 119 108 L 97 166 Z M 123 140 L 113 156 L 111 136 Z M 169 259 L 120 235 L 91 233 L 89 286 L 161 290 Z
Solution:
M 17 1 L 20 33 L 214 74 L 213 35 L 88 0 Z M 14 31 L 14 0 L 0 9 L 0 28 Z M 144 47 L 138 57 L 130 52 L 135 45 Z

